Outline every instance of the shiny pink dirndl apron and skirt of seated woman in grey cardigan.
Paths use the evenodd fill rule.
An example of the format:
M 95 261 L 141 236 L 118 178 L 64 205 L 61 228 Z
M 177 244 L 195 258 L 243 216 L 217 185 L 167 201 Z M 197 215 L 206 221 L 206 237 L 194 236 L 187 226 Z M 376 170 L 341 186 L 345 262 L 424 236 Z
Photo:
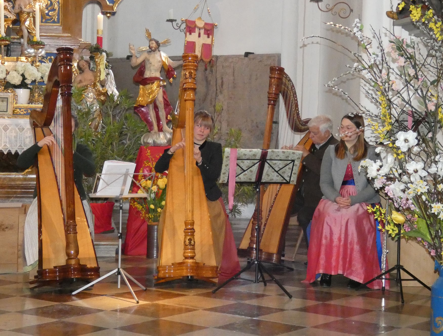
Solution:
M 340 188 L 342 197 L 356 195 L 354 185 Z M 321 199 L 315 209 L 307 253 L 307 275 L 302 282 L 315 281 L 316 273 L 343 274 L 365 283 L 381 274 L 377 256 L 374 215 L 366 210 L 367 203 L 357 203 L 342 209 L 329 199 Z M 334 282 L 334 281 L 333 281 Z M 368 287 L 381 288 L 381 280 Z M 389 288 L 389 281 L 386 282 Z

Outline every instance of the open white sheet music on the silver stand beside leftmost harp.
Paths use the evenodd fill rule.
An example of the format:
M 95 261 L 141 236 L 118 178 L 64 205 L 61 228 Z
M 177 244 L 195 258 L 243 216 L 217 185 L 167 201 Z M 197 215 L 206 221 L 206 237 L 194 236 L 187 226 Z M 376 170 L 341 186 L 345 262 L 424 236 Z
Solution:
M 136 164 L 132 162 L 109 160 L 105 161 L 101 178 L 98 182 L 96 195 L 126 195 L 131 186 L 131 176 L 134 173 Z M 124 177 L 128 173 L 126 185 L 123 186 Z M 122 192 L 122 189 L 124 190 Z

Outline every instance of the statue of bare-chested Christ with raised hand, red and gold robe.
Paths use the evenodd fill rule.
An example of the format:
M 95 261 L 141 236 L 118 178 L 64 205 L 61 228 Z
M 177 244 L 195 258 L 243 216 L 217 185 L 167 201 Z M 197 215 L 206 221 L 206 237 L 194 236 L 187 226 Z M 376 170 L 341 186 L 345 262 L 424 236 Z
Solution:
M 176 77 L 174 68 L 183 64 L 183 61 L 174 62 L 159 50 L 160 44 L 169 43 L 169 39 L 160 43 L 152 38 L 148 29 L 146 37 L 149 39 L 149 47 L 139 48 L 138 51 L 143 52 L 139 57 L 136 56 L 134 45 L 129 43 L 129 52 L 132 54 L 131 66 L 141 64 L 134 75 L 134 82 L 140 85 L 134 111 L 148 125 L 149 131 L 158 133 L 163 130 L 165 133 L 172 133 L 166 125 L 166 118 L 171 113 L 172 107 L 167 99 L 164 89 L 166 82 L 160 77 L 160 71 L 163 67 L 166 77 L 172 82 L 172 78 Z

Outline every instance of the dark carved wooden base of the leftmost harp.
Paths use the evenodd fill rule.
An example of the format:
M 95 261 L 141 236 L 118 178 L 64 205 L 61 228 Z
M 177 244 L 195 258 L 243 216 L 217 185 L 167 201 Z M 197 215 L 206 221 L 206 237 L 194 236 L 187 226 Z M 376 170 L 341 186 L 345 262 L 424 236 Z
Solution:
M 59 282 L 63 279 L 93 281 L 100 277 L 100 267 L 87 265 L 62 265 L 51 269 L 38 270 L 35 279 L 29 283 Z

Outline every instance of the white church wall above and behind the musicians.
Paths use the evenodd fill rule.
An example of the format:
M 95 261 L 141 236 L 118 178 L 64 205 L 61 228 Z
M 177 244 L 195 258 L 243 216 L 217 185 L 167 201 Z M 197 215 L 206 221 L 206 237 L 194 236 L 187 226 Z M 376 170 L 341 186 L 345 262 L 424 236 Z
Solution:
M 128 43 L 136 47 L 147 46 L 144 28 L 148 27 L 157 39 L 170 38 L 172 43 L 162 46 L 168 55 L 181 55 L 183 33 L 172 29 L 169 10 L 174 18 L 187 18 L 197 0 L 123 0 L 117 14 L 104 20 L 104 48 L 114 57 L 129 54 Z M 325 7 L 325 3 L 321 7 Z M 215 29 L 214 55 L 241 55 L 245 51 L 256 54 L 280 53 L 281 66 L 292 78 L 299 98 L 303 118 L 329 113 L 334 126 L 341 117 L 352 110 L 345 99 L 326 88 L 324 84 L 346 71 L 346 64 L 353 60 L 330 42 L 320 39 L 300 41 L 310 35 L 322 35 L 357 51 L 357 42 L 337 28 L 324 25 L 333 21 L 351 27 L 355 18 L 361 18 L 366 27 L 373 25 L 378 30 L 392 24 L 385 11 L 392 7 L 391 0 L 380 5 L 365 4 L 365 1 L 349 1 L 354 12 L 341 19 L 331 12 L 321 12 L 317 4 L 294 0 L 210 0 L 212 18 L 219 26 Z M 362 8 L 363 6 L 363 8 Z M 83 38 L 95 41 L 97 5 L 88 5 L 84 12 Z M 195 18 L 200 9 L 191 18 Z M 202 17 L 209 21 L 206 8 Z M 180 21 L 178 21 L 180 22 Z M 182 26 L 183 27 L 183 26 Z M 400 30 L 400 29 L 397 29 Z M 347 80 L 341 87 L 350 93 L 356 102 L 365 99 L 360 94 L 358 80 Z M 366 102 L 365 102 L 366 104 Z

